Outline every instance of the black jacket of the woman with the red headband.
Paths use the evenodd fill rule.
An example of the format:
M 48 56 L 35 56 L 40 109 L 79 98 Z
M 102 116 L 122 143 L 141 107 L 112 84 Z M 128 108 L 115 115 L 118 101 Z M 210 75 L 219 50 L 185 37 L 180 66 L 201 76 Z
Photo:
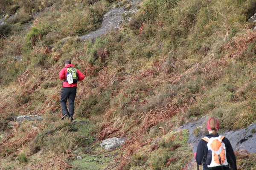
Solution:
M 208 138 L 211 137 L 218 137 L 218 133 L 214 136 L 212 133 L 206 135 Z M 227 162 L 230 164 L 230 170 L 237 170 L 236 167 L 236 156 L 234 154 L 233 148 L 230 144 L 230 141 L 227 138 L 224 138 L 222 140 L 226 146 L 226 151 L 227 151 Z M 208 147 L 207 147 L 207 142 L 201 139 L 198 143 L 198 148 L 195 156 L 196 162 L 201 165 L 203 164 L 204 170 L 209 170 L 206 164 L 206 158 L 207 158 L 207 153 L 208 153 Z M 226 168 L 227 170 L 229 168 Z M 221 168 L 220 168 L 221 170 Z

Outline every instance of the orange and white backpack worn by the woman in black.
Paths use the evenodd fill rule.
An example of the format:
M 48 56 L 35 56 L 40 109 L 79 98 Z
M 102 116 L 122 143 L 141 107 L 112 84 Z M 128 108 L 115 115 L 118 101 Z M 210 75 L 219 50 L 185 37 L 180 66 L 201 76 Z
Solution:
M 207 167 L 228 166 L 226 147 L 222 141 L 224 137 L 225 136 L 208 138 L 205 136 L 202 138 L 204 141 L 208 142 Z

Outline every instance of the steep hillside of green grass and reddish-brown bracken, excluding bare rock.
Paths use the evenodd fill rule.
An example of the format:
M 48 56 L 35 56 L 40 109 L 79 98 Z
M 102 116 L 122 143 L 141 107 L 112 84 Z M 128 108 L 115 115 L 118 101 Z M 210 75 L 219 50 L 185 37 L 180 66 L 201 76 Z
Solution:
M 98 169 L 181 170 L 192 148 L 186 130 L 170 130 L 205 115 L 224 130 L 256 122 L 255 0 L 142 0 L 118 31 L 81 41 L 116 4 L 0 1 L 1 169 L 82 169 L 83 155 Z M 60 120 L 67 59 L 86 75 L 77 124 Z M 44 120 L 8 124 L 29 114 Z M 126 136 L 125 145 L 102 150 L 113 136 Z M 255 154 L 236 156 L 239 170 L 256 169 Z

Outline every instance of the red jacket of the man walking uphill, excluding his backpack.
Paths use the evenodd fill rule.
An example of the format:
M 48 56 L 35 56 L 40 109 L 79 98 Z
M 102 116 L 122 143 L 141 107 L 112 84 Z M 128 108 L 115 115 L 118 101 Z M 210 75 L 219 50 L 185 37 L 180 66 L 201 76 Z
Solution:
M 68 64 L 64 68 L 62 68 L 61 71 L 59 72 L 59 78 L 61 80 L 67 79 L 67 68 L 69 68 L 69 67 L 75 67 L 75 66 L 72 64 Z M 82 81 L 84 79 L 84 74 L 82 74 L 81 71 L 79 71 L 78 69 L 76 69 L 76 71 L 77 71 L 78 81 Z M 64 88 L 77 87 L 77 83 L 69 84 L 67 81 L 65 81 L 62 83 L 62 87 L 64 87 Z

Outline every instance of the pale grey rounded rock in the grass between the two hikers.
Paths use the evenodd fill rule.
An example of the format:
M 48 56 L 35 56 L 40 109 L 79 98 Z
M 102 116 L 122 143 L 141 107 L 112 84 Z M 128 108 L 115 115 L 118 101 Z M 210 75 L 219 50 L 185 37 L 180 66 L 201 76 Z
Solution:
M 126 138 L 109 138 L 100 144 L 101 147 L 103 147 L 106 150 L 113 150 L 117 147 L 119 147 L 121 144 L 125 143 Z

